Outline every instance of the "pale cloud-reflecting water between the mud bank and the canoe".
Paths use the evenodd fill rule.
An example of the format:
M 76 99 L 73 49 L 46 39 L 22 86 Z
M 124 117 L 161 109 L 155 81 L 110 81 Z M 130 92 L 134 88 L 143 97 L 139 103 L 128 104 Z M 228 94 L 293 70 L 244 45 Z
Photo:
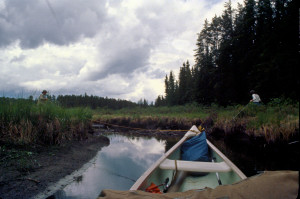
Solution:
M 128 190 L 164 152 L 166 142 L 155 138 L 108 135 L 110 145 L 98 152 L 95 162 L 55 199 L 94 199 L 102 189 Z

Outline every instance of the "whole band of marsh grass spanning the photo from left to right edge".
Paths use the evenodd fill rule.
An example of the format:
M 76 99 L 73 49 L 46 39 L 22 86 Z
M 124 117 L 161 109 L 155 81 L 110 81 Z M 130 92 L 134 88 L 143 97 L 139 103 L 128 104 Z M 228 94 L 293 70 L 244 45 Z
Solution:
M 64 140 L 82 139 L 89 129 L 90 120 L 153 130 L 185 130 L 196 124 L 207 130 L 223 129 L 226 133 L 238 127 L 249 135 L 264 136 L 268 141 L 287 140 L 299 133 L 299 102 L 274 99 L 261 106 L 248 104 L 225 108 L 189 104 L 91 110 L 0 98 L 1 142 L 55 145 Z

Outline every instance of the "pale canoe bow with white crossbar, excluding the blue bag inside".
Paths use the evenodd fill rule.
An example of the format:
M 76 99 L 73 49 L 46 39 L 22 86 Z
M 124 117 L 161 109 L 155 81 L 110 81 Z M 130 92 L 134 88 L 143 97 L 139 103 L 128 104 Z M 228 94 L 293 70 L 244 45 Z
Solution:
M 149 190 L 150 185 L 161 192 L 184 192 L 233 184 L 247 177 L 209 140 L 206 140 L 211 162 L 181 160 L 182 144 L 201 133 L 192 128 L 170 150 L 164 153 L 130 188 Z M 196 174 L 196 175 L 195 175 Z M 197 175 L 198 174 L 198 175 Z M 164 191 L 163 191 L 164 190 Z

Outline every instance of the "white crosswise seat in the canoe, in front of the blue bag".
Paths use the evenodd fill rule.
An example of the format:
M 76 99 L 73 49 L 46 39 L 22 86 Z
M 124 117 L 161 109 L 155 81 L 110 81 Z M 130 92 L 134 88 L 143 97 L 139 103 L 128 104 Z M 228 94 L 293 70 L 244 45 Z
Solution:
M 197 162 L 176 160 L 177 170 L 191 172 L 228 172 L 231 168 L 225 162 Z M 160 165 L 160 169 L 176 170 L 175 160 L 165 159 Z

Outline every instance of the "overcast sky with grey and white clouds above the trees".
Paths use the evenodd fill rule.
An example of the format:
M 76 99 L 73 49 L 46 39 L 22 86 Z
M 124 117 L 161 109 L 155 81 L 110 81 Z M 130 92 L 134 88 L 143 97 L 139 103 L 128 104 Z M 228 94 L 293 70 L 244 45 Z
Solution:
M 197 33 L 225 2 L 0 0 L 0 94 L 154 102 L 171 70 L 193 66 Z

